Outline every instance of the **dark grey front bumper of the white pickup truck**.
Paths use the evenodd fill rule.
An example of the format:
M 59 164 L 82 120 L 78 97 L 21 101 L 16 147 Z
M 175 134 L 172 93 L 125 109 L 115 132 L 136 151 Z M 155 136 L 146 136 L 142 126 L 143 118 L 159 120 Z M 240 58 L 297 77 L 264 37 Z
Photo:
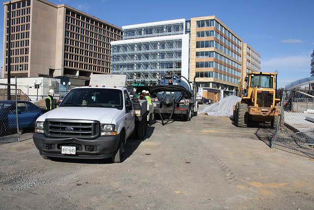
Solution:
M 45 134 L 34 133 L 33 140 L 41 155 L 48 157 L 104 159 L 112 157 L 117 149 L 120 134 L 100 136 L 96 139 L 48 138 Z M 76 147 L 76 154 L 61 154 L 62 146 Z

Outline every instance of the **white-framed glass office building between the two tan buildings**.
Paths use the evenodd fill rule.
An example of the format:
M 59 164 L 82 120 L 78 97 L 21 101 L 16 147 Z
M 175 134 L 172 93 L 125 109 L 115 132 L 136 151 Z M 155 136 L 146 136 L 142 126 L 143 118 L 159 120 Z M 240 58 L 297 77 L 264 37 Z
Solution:
M 112 41 L 112 74 L 126 74 L 127 83 L 157 79 L 170 71 L 189 77 L 189 30 L 185 19 L 122 27 L 123 40 Z

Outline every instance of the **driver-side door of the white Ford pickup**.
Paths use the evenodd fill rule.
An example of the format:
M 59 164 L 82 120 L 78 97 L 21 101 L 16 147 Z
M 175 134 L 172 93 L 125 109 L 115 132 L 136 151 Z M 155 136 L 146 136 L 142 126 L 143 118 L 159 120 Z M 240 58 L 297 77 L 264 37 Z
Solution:
M 124 90 L 124 103 L 125 103 L 125 107 L 126 107 L 126 125 L 127 125 L 127 137 L 129 137 L 131 135 L 131 133 L 133 132 L 134 128 L 135 128 L 135 111 L 133 108 L 133 104 L 130 98 L 130 95 L 128 93 L 127 90 Z M 131 107 L 130 107 L 131 105 Z M 130 107 L 130 109 L 128 109 L 128 107 Z

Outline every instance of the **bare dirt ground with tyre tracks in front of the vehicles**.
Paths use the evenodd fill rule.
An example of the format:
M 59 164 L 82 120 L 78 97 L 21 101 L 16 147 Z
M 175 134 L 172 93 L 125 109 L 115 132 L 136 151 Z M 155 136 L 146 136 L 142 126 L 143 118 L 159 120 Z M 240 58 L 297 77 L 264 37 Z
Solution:
M 0 209 L 313 209 L 314 159 L 270 149 L 270 131 L 158 120 L 115 164 L 43 159 L 26 133 L 0 144 Z

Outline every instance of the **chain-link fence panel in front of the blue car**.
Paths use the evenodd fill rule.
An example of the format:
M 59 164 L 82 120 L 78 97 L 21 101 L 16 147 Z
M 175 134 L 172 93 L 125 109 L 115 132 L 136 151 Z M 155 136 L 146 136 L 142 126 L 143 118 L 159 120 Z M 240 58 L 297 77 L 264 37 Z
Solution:
M 16 84 L 0 83 L 0 143 L 19 142 Z M 7 100 L 13 100 L 9 102 Z

